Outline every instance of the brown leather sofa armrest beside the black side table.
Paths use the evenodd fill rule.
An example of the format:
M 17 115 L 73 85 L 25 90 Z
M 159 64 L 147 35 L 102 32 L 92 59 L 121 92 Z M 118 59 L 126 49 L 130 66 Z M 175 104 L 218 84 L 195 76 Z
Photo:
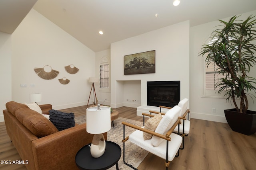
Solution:
M 104 137 L 106 138 L 106 133 Z M 32 141 L 36 170 L 76 170 L 78 150 L 92 142 L 86 123 Z

